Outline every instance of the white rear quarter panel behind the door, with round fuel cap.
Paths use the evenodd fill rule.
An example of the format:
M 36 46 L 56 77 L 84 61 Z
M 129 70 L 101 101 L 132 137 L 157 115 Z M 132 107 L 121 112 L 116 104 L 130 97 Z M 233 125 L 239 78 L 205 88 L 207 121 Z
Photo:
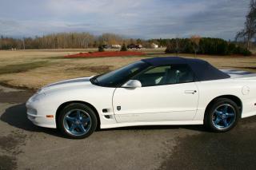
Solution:
M 242 117 L 256 114 L 256 80 L 222 79 L 199 81 L 198 112 L 194 120 L 203 120 L 207 105 L 216 97 L 232 95 L 242 101 Z

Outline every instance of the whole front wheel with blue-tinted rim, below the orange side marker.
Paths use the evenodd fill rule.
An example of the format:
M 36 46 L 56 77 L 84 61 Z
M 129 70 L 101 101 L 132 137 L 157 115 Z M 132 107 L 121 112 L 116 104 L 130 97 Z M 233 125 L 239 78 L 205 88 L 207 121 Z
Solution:
M 97 117 L 87 105 L 74 103 L 62 109 L 58 127 L 65 136 L 82 139 L 92 134 L 97 127 Z

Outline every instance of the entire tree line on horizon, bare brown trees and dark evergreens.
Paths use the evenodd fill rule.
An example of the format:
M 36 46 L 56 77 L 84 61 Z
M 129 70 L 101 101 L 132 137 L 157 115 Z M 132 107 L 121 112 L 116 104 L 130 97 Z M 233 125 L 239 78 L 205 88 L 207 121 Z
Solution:
M 138 44 L 150 48 L 152 43 L 167 47 L 166 53 L 201 53 L 201 54 L 242 54 L 250 55 L 250 51 L 235 42 L 227 42 L 221 38 L 166 38 L 166 39 L 132 39 L 122 38 L 117 34 L 94 36 L 88 33 L 49 34 L 35 38 L 0 38 L 0 49 L 86 49 L 98 48 L 100 45 Z

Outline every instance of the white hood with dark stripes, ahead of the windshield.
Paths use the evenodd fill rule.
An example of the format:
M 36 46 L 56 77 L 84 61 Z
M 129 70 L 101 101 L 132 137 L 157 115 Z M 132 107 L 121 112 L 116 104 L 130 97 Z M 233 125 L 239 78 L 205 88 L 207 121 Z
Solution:
M 77 89 L 81 86 L 84 87 L 85 85 L 92 85 L 90 82 L 90 78 L 91 77 L 80 77 L 66 81 L 58 81 L 42 87 L 42 89 L 38 90 L 38 93 L 50 93 L 50 91 L 60 89 Z

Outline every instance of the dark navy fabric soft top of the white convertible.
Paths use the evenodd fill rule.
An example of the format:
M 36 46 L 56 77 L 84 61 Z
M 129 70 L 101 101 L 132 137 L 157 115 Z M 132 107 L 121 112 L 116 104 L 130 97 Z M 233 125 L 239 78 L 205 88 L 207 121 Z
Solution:
M 185 57 L 152 57 L 142 59 L 142 61 L 153 65 L 189 65 L 194 71 L 198 81 L 211 81 L 218 79 L 230 78 L 230 75 L 223 73 L 219 69 L 216 69 L 209 62 L 203 61 L 195 58 L 185 58 Z

